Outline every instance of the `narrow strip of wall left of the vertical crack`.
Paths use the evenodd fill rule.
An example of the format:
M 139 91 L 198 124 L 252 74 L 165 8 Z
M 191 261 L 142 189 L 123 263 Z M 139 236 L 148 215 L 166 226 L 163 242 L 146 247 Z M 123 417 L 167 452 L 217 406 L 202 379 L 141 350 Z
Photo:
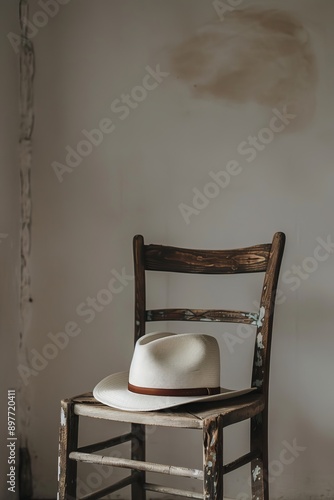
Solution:
M 15 498 L 8 492 L 7 391 L 18 388 L 17 350 L 19 342 L 19 170 L 18 138 L 18 61 L 6 39 L 18 29 L 17 5 L 10 0 L 0 4 L 0 377 L 1 377 L 1 453 L 0 498 Z M 12 416 L 12 415 L 11 415 Z M 18 426 L 18 414 L 16 424 Z M 18 429 L 16 431 L 18 436 Z M 18 449 L 16 449 L 18 458 Z M 11 464 L 12 465 L 12 464 Z M 17 466 L 17 463 L 15 464 Z

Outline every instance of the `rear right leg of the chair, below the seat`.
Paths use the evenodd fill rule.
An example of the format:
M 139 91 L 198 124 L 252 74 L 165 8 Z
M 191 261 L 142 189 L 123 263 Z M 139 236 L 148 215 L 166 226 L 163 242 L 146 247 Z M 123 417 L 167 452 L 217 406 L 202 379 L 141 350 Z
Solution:
M 268 412 L 252 418 L 251 449 L 260 451 L 261 457 L 251 463 L 252 500 L 269 500 L 268 470 Z

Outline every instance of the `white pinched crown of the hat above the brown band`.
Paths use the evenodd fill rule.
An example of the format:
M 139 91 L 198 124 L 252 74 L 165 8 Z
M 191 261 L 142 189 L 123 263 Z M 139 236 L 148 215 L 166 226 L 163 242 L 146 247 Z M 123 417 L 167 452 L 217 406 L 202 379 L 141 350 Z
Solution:
M 218 342 L 197 333 L 146 334 L 136 343 L 129 384 L 148 389 L 219 387 Z

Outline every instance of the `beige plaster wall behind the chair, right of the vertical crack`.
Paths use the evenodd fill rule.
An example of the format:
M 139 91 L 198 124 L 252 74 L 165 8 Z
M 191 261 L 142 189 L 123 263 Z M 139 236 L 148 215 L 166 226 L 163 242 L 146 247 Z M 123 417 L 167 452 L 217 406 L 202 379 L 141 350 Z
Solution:
M 250 5 L 248 1 L 240 4 L 242 8 Z M 272 355 L 271 498 L 333 498 L 334 408 L 329 395 L 334 257 L 331 247 L 319 249 L 318 239 L 334 238 L 334 5 L 329 0 L 267 1 L 265 5 L 279 5 L 297 19 L 290 26 L 296 45 L 290 45 L 282 56 L 281 66 L 277 53 L 270 57 L 264 51 L 264 60 L 272 64 L 270 72 L 259 62 L 261 54 L 256 61 L 251 51 L 245 52 L 254 33 L 247 31 L 247 21 L 238 18 L 233 22 L 224 18 L 219 28 L 208 29 L 219 29 L 213 46 L 221 48 L 197 75 L 197 69 L 191 74 L 191 68 L 189 73 L 180 67 L 180 59 L 170 64 L 170 54 L 175 54 L 182 41 L 217 20 L 210 1 L 72 0 L 60 6 L 34 38 L 34 315 L 26 348 L 35 371 L 26 382 L 33 394 L 29 442 L 35 491 L 40 497 L 51 497 L 56 488 L 60 398 L 91 390 L 107 374 L 126 370 L 130 362 L 132 281 L 123 283 L 122 292 L 99 312 L 88 312 L 87 301 L 102 297 L 99 292 L 112 271 L 120 273 L 125 268 L 131 274 L 133 235 L 143 233 L 147 241 L 166 244 L 220 248 L 267 242 L 281 230 L 287 234 L 287 247 Z M 35 9 L 39 10 L 37 2 Z M 279 35 L 271 36 L 265 42 L 271 46 L 272 41 L 277 49 L 280 40 L 275 37 Z M 196 44 L 191 50 L 201 50 Z M 198 57 L 195 54 L 194 60 Z M 233 64 L 236 69 L 247 66 L 251 75 L 256 68 L 253 80 L 248 74 L 250 80 L 234 83 L 243 85 L 241 93 L 231 95 L 223 86 L 216 92 L 210 85 L 207 92 L 197 87 L 196 93 L 193 85 L 203 87 L 215 68 L 222 65 L 226 73 Z M 147 67 L 157 65 L 169 75 L 162 76 L 144 98 L 135 87 L 143 81 L 153 87 L 153 78 L 146 78 L 151 71 Z M 280 78 L 287 82 L 282 95 Z M 120 110 L 115 100 L 131 92 L 143 100 Z M 283 111 L 285 100 L 293 101 L 289 113 L 296 119 L 273 121 Z M 113 130 L 110 122 L 101 123 L 105 118 L 112 120 Z M 102 142 L 83 159 L 71 157 L 72 165 L 65 165 L 66 147 L 80 149 L 79 142 L 87 139 L 83 130 L 99 125 L 105 128 Z M 263 132 L 268 126 L 275 129 L 272 136 Z M 262 137 L 263 142 L 258 150 L 245 153 L 249 136 Z M 101 135 L 95 140 L 101 141 Z M 239 167 L 228 185 L 211 185 L 212 197 L 202 199 L 203 207 L 207 206 L 201 208 L 200 200 L 194 200 L 197 205 L 193 206 L 193 189 L 210 195 L 210 173 L 228 170 L 231 160 Z M 65 165 L 65 169 L 57 166 L 62 182 L 52 167 L 54 162 Z M 64 169 L 62 174 L 59 168 Z M 188 224 L 180 211 L 182 203 L 195 209 Z M 209 284 L 213 292 L 208 289 L 204 294 L 208 304 L 252 308 L 258 298 L 258 280 L 247 280 L 246 287 L 239 277 L 235 286 L 230 278 L 222 284 L 212 279 Z M 239 299 L 243 290 L 250 295 L 246 301 Z M 167 294 L 153 283 L 152 305 L 185 301 L 195 307 L 203 303 L 201 281 L 186 279 L 182 285 L 179 278 L 173 278 Z M 77 324 L 77 335 L 59 335 L 62 345 L 55 347 L 54 335 L 64 332 L 66 325 L 69 328 L 68 322 Z M 248 384 L 252 338 L 242 340 L 239 335 L 240 342 L 231 346 L 232 327 L 208 331 L 220 339 L 224 383 Z M 42 356 L 43 350 L 49 359 Z M 86 424 L 84 432 L 87 441 L 90 432 L 102 435 Z M 158 445 L 160 436 L 162 446 Z M 227 433 L 231 449 L 227 458 L 241 449 L 246 436 L 241 426 Z M 168 463 L 175 446 L 180 464 L 198 466 L 200 436 L 189 434 L 185 445 L 179 438 L 178 432 L 152 432 L 149 458 Z M 298 447 L 295 456 L 284 451 L 294 445 Z M 81 472 L 85 491 L 101 478 L 96 471 L 94 476 L 89 474 L 88 469 Z M 112 478 L 117 477 L 114 471 Z M 247 477 L 247 470 L 241 480 L 232 475 L 227 494 L 238 500 L 247 498 L 240 494 L 248 491 Z

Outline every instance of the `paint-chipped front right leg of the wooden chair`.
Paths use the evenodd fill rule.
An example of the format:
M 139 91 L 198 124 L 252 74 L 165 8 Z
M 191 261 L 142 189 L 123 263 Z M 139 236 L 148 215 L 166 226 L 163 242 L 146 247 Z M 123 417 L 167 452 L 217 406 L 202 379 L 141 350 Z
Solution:
M 206 500 L 222 500 L 223 478 L 223 420 L 221 416 L 208 418 L 203 426 L 203 472 Z

